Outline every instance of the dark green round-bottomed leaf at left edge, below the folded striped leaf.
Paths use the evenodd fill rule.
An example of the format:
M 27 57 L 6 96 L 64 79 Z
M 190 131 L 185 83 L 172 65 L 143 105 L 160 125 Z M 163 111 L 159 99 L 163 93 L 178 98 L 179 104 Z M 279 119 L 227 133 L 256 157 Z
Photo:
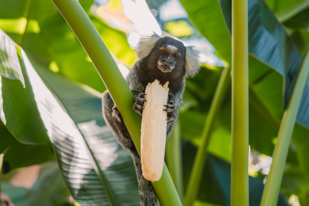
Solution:
M 19 65 L 23 76 L 27 77 L 23 63 L 19 62 Z M 28 78 L 24 79 L 25 88 L 20 81 L 0 77 L 1 120 L 14 137 L 23 143 L 50 144 L 37 111 L 31 84 Z M 19 124 L 16 120 L 19 120 Z

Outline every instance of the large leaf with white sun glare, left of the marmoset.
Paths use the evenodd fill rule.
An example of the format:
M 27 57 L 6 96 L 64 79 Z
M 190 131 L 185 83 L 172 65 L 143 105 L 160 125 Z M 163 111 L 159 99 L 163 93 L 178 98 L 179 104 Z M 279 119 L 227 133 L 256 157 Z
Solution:
M 82 205 L 138 204 L 132 159 L 104 123 L 101 98 L 31 59 L 44 82 L 31 65 L 27 71 L 71 195 Z

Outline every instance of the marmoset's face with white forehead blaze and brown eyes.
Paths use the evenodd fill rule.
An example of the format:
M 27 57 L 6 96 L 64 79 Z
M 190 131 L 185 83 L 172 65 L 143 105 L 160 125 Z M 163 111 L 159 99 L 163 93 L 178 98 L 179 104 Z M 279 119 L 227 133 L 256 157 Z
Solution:
M 159 53 L 158 68 L 164 73 L 173 71 L 176 62 L 181 59 L 181 54 L 178 49 L 173 45 L 166 45 L 159 48 Z

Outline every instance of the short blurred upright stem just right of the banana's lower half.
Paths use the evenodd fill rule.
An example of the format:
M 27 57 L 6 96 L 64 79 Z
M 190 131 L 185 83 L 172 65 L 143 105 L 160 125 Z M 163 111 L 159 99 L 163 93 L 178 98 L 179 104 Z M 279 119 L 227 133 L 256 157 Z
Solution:
M 176 190 L 180 200 L 183 201 L 184 185 L 182 174 L 182 150 L 181 150 L 181 131 L 180 131 L 180 119 L 178 118 L 172 136 L 166 143 L 166 159 L 167 168 L 170 171 L 172 180 L 174 181 Z

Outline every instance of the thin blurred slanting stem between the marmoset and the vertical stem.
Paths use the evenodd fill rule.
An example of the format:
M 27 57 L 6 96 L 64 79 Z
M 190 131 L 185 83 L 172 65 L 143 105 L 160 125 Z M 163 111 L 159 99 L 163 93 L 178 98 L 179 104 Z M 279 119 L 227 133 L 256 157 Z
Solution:
M 197 154 L 194 159 L 192 172 L 190 174 L 188 187 L 185 194 L 184 205 L 192 206 L 196 199 L 198 188 L 200 187 L 201 177 L 205 166 L 205 156 L 207 152 L 207 145 L 209 143 L 209 137 L 211 128 L 213 127 L 215 118 L 218 116 L 219 109 L 221 108 L 223 98 L 226 95 L 226 90 L 231 82 L 230 67 L 223 69 L 221 77 L 216 88 L 214 99 L 211 102 L 209 113 L 205 121 L 204 129 L 201 135 L 201 144 L 197 150 Z

